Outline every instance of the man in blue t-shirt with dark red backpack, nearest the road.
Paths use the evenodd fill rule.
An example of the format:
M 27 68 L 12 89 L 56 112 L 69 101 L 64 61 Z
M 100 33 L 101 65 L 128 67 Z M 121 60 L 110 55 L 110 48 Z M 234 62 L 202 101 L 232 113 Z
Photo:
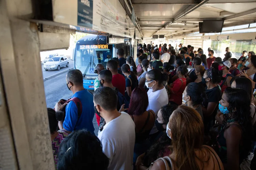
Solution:
M 73 92 L 73 96 L 71 98 L 79 98 L 82 103 L 82 114 L 78 119 L 78 110 L 77 106 L 73 101 L 70 101 L 68 104 L 63 103 L 60 100 L 55 105 L 55 110 L 58 111 L 61 108 L 66 106 L 66 117 L 64 122 L 59 122 L 59 127 L 61 129 L 61 125 L 63 129 L 68 133 L 71 133 L 74 130 L 79 129 L 87 129 L 92 134 L 94 134 L 94 126 L 93 126 L 93 118 L 94 118 L 94 103 L 93 103 L 93 95 L 84 89 L 83 86 L 83 74 L 80 70 L 70 70 L 66 76 L 67 87 L 69 90 Z M 63 124 L 62 124 L 63 123 Z

